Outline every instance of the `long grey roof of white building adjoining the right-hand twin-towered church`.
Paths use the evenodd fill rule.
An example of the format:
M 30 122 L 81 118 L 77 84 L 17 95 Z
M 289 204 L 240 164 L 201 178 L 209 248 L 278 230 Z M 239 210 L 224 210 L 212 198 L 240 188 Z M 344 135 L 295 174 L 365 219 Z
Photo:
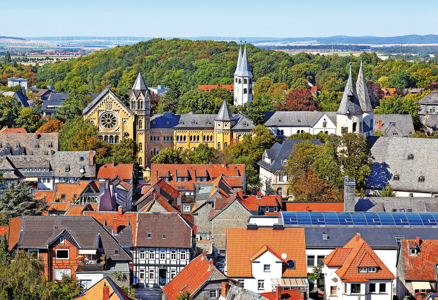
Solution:
M 300 126 L 313 127 L 324 112 L 320 111 L 262 111 L 265 116 L 264 125 L 267 127 L 278 126 Z M 328 116 L 328 115 L 327 115 Z M 330 120 L 332 120 L 329 117 Z M 336 121 L 334 122 L 336 124 Z

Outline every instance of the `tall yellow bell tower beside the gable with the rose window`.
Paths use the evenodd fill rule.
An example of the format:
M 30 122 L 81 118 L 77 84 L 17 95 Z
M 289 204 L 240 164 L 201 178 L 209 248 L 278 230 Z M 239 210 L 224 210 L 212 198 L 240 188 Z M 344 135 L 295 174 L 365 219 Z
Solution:
M 147 143 L 150 135 L 151 91 L 147 88 L 140 72 L 138 72 L 136 82 L 134 82 L 132 89 L 129 90 L 129 101 L 131 110 L 136 115 L 134 139 L 137 141 L 138 147 L 137 162 L 140 167 L 146 168 L 150 160 L 149 155 L 147 155 Z

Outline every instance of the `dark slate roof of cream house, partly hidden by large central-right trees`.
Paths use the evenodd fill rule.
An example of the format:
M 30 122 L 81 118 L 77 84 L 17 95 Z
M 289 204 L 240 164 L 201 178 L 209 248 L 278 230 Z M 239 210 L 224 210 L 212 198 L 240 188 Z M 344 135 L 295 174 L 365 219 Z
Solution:
M 271 149 L 265 150 L 264 156 L 268 156 L 271 160 L 274 160 L 272 164 L 263 161 L 263 158 L 257 162 L 257 165 L 268 170 L 268 171 L 284 171 L 285 166 L 282 162 L 289 158 L 295 144 L 299 144 L 302 141 L 310 141 L 313 145 L 321 145 L 321 141 L 314 140 L 285 140 L 283 144 L 275 143 Z

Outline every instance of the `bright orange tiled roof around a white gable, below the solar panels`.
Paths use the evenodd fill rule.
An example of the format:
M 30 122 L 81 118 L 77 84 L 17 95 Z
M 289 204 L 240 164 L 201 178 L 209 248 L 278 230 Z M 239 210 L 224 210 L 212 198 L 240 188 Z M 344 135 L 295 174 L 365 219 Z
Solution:
M 250 241 L 248 243 L 248 241 Z M 285 243 L 284 241 L 287 241 Z M 304 243 L 304 228 L 247 228 L 226 229 L 227 275 L 230 277 L 252 277 L 250 258 L 262 247 L 268 246 L 275 253 L 287 254 L 287 260 L 295 260 L 296 269 L 283 264 L 282 277 L 306 277 L 307 262 Z

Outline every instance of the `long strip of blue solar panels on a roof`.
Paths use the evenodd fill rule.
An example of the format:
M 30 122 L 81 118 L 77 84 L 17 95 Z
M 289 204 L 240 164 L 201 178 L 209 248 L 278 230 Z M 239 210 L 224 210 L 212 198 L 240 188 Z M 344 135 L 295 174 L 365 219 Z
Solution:
M 438 213 L 281 212 L 284 225 L 438 226 Z

